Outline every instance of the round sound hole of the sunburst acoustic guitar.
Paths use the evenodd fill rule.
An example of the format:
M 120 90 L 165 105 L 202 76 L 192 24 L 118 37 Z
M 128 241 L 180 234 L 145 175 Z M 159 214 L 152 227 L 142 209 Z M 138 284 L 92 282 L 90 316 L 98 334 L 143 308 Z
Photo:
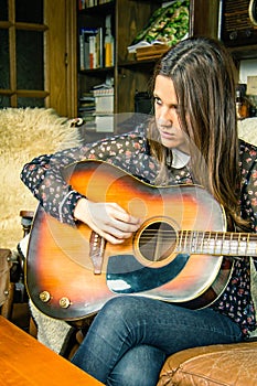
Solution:
M 140 235 L 139 250 L 149 261 L 161 261 L 169 257 L 176 246 L 176 232 L 165 222 L 148 225 Z

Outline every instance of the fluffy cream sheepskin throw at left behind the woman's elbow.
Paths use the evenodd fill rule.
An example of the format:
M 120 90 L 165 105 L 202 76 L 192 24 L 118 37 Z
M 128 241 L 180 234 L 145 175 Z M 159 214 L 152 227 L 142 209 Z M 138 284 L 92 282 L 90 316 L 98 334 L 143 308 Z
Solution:
M 79 143 L 77 128 L 51 108 L 0 109 L 0 247 L 15 249 L 23 237 L 20 211 L 35 211 L 36 200 L 20 180 L 34 157 Z

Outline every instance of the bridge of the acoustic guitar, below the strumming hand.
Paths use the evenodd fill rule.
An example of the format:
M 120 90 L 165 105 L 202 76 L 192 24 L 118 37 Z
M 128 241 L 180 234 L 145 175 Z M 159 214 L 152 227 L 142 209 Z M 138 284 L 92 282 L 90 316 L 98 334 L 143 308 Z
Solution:
M 105 253 L 106 240 L 100 237 L 96 232 L 92 232 L 89 239 L 89 258 L 93 262 L 94 274 L 100 275 L 101 267 L 104 261 L 104 253 Z

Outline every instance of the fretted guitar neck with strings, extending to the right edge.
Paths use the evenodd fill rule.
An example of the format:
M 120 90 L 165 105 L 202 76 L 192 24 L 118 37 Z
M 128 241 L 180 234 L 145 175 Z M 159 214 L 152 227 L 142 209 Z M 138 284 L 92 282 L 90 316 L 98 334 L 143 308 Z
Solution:
M 216 256 L 257 256 L 257 234 L 180 230 L 178 239 L 178 253 Z

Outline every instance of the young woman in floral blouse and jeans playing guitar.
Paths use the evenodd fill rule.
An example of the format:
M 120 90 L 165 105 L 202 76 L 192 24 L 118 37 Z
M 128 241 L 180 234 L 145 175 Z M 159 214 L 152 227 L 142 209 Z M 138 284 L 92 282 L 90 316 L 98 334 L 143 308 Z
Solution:
M 237 138 L 232 60 L 214 40 L 190 37 L 161 58 L 153 77 L 154 119 L 110 139 L 42 156 L 22 180 L 47 213 L 86 223 L 115 245 L 140 227 L 116 203 L 89 202 L 63 180 L 74 161 L 98 159 L 153 185 L 194 183 L 225 208 L 228 229 L 257 229 L 257 149 Z M 151 386 L 165 357 L 188 347 L 239 342 L 256 329 L 249 257 L 211 305 L 190 310 L 141 296 L 120 296 L 98 312 L 73 363 L 106 385 Z

